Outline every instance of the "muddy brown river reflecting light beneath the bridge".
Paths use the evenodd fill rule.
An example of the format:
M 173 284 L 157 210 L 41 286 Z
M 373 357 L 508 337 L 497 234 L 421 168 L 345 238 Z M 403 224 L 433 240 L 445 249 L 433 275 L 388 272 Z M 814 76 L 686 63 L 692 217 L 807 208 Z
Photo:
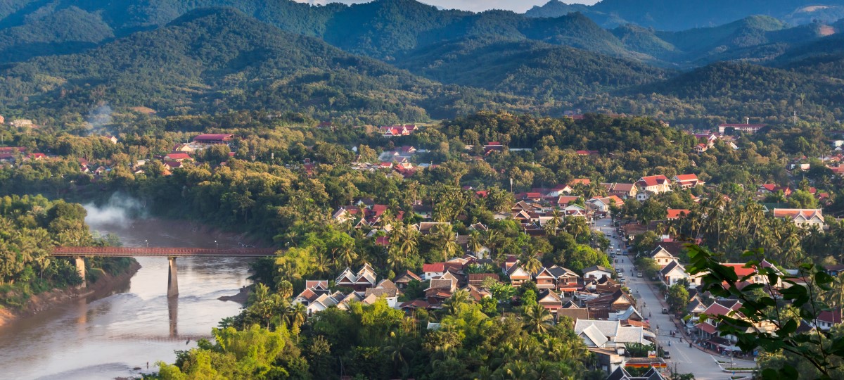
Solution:
M 91 228 L 115 233 L 125 247 L 240 245 L 235 236 L 171 220 Z M 178 258 L 179 296 L 168 301 L 167 258 L 137 259 L 143 268 L 109 293 L 0 328 L 0 378 L 113 379 L 152 372 L 155 361 L 174 361 L 174 350 L 196 347 L 197 337 L 209 337 L 222 318 L 237 314 L 240 304 L 218 298 L 250 284 L 247 258 Z

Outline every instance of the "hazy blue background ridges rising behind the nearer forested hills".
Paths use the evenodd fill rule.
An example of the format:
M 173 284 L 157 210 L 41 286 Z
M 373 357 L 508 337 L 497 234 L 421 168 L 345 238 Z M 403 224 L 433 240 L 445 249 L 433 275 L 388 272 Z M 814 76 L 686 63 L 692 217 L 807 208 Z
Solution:
M 812 24 L 814 27 L 793 28 L 787 20 L 750 16 L 766 13 L 767 5 L 755 0 L 739 7 L 753 8 L 755 12 L 739 12 L 735 17 L 723 15 L 723 22 L 690 24 L 689 30 L 642 28 L 636 24 L 651 24 L 627 24 L 618 20 L 607 24 L 598 19 L 600 25 L 596 23 L 596 9 L 613 4 L 628 9 L 628 3 L 641 3 L 644 9 L 658 8 L 651 15 L 665 15 L 657 20 L 685 22 L 696 17 L 696 14 L 672 14 L 666 10 L 686 2 L 663 4 L 661 0 L 627 3 L 605 0 L 592 7 L 565 6 L 568 9 L 565 14 L 555 18 L 533 18 L 507 11 L 474 14 L 441 10 L 415 0 L 374 0 L 351 6 L 331 3 L 324 7 L 293 0 L 14 0 L 0 8 L 0 62 L 79 52 L 113 37 L 160 27 L 193 9 L 208 7 L 235 8 L 281 30 L 317 37 L 346 52 L 386 62 L 444 41 L 484 36 L 543 41 L 662 66 L 688 67 L 727 59 L 770 60 L 795 44 L 841 32 L 841 25 L 830 24 L 831 21 L 823 18 Z M 698 7 L 695 4 L 689 7 Z M 728 8 L 734 4 L 730 5 Z M 830 10 L 833 8 L 824 9 L 829 14 L 833 12 Z M 647 19 L 647 15 L 642 17 Z M 614 30 L 602 27 L 610 24 L 621 26 Z

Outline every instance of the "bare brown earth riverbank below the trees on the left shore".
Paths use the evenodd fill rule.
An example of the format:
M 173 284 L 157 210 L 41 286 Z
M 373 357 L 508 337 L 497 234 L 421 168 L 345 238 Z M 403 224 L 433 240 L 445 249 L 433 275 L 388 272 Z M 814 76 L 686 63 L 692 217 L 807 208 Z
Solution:
M 51 307 L 56 307 L 70 301 L 76 301 L 87 296 L 110 293 L 118 285 L 127 283 L 127 281 L 138 272 L 138 269 L 141 269 L 141 264 L 137 261 L 133 261 L 133 263 L 121 274 L 111 275 L 103 273 L 95 283 L 89 284 L 85 288 L 48 290 L 30 296 L 30 298 L 26 300 L 26 304 L 19 310 L 12 310 L 5 307 L 0 308 L 0 328 L 19 318 L 33 316 L 39 312 L 48 310 Z

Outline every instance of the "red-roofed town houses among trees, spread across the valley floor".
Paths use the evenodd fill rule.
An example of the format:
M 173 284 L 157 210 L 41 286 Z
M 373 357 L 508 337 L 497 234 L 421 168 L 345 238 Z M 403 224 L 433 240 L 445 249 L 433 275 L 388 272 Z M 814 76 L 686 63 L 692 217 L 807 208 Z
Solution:
M 571 119 L 579 122 L 583 117 Z M 660 128 L 668 128 L 661 124 Z M 37 133 L 28 121 L 15 120 L 10 126 L 18 133 Z M 746 139 L 763 128 L 721 124 L 713 128 L 718 132 L 685 133 L 690 138 L 687 146 L 693 147 L 688 154 L 740 151 L 738 138 Z M 337 126 L 322 122 L 317 130 L 336 131 Z M 387 142 L 381 152 L 360 146 L 311 155 L 284 167 L 303 178 L 316 178 L 327 170 L 328 157 L 347 155 L 349 170 L 396 182 L 453 171 L 451 162 L 431 160 L 437 154 L 432 149 L 393 144 L 420 131 L 425 128 L 403 124 L 376 128 L 373 133 Z M 231 166 L 231 160 L 255 160 L 252 148 L 236 134 L 200 133 L 189 138 L 174 144 L 169 153 L 134 161 L 78 156 L 78 171 L 89 178 L 77 182 L 88 182 L 90 187 L 111 183 L 121 176 L 118 173 L 169 177 L 194 168 Z M 111 135 L 90 139 L 106 147 L 125 144 L 123 138 Z M 300 269 L 284 269 L 284 263 L 279 271 L 296 289 L 291 307 L 301 307 L 308 318 L 317 318 L 327 309 L 384 303 L 434 331 L 441 328 L 436 315 L 453 312 L 461 303 L 475 303 L 490 315 L 526 314 L 542 323 L 571 326 L 594 357 L 592 369 L 607 378 L 669 378 L 678 373 L 717 378 L 727 372 L 750 377 L 758 353 L 742 350 L 735 335 L 722 334 L 717 328 L 719 317 L 741 318 L 742 302 L 701 291 L 704 274 L 690 274 L 686 269 L 690 264 L 687 247 L 715 238 L 728 242 L 728 231 L 717 231 L 722 221 L 707 220 L 710 215 L 731 218 L 728 209 L 753 209 L 762 219 L 751 223 L 770 224 L 795 236 L 841 231 L 839 221 L 823 214 L 834 195 L 818 190 L 803 175 L 819 162 L 825 170 L 839 173 L 837 165 L 844 158 L 841 146 L 841 140 L 835 139 L 822 156 L 795 157 L 787 165 L 793 182 L 760 182 L 729 194 L 722 193 L 722 184 L 711 185 L 695 172 L 650 172 L 629 182 L 574 177 L 549 187 L 526 187 L 511 177 L 506 181 L 510 188 L 461 183 L 459 175 L 452 174 L 455 180 L 449 186 L 432 188 L 427 197 L 403 197 L 401 206 L 377 203 L 376 198 L 384 199 L 378 193 L 348 198 L 347 204 L 320 217 L 331 231 L 344 237 L 319 237 L 327 240 L 322 243 L 326 247 L 307 253 L 317 254 L 317 260 L 334 260 L 331 266 L 338 272 L 322 269 L 317 272 L 332 275 L 305 277 Z M 20 146 L 2 148 L 0 153 L 7 168 L 14 170 L 41 160 L 65 160 L 57 154 L 61 147 L 53 149 L 41 153 Z M 458 153 L 474 165 L 531 150 L 493 141 L 466 144 Z M 614 156 L 614 152 L 599 150 L 572 152 L 572 157 L 586 161 L 618 160 Z M 803 179 L 798 181 L 798 177 Z M 81 188 L 76 187 L 74 191 Z M 361 244 L 382 252 L 375 257 L 386 259 L 363 258 L 362 252 L 356 252 Z M 330 258 L 327 252 L 332 252 Z M 768 258 L 779 264 L 766 258 L 759 263 L 735 261 L 735 255 L 721 264 L 744 279 L 742 286 L 764 284 L 766 291 L 776 294 L 790 284 L 782 280 L 769 284 L 757 269 L 798 275 L 799 258 L 783 250 L 770 253 Z M 827 261 L 823 269 L 831 276 L 844 270 L 835 260 Z M 291 277 L 294 273 L 295 278 Z M 798 328 L 829 331 L 841 324 L 841 304 L 832 305 L 817 318 L 801 320 Z M 756 332 L 776 330 L 773 323 L 749 323 Z

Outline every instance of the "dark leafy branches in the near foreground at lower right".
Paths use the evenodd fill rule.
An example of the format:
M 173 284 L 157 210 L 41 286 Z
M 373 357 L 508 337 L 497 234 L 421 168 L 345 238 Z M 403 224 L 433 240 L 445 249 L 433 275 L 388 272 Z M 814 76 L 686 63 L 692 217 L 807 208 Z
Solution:
M 825 305 L 819 301 L 819 293 L 831 290 L 834 279 L 811 263 L 798 266 L 798 275 L 777 274 L 775 268 L 763 267 L 760 261 L 765 257 L 762 250 L 744 253 L 749 265 L 754 265 L 764 283 L 741 287 L 738 284 L 757 274 L 743 278 L 732 268 L 721 265 L 712 252 L 704 247 L 689 247 L 690 274 L 702 275 L 701 291 L 710 291 L 713 296 L 733 297 L 742 301 L 739 314 L 717 317 L 717 329 L 722 335 L 737 337 L 737 345 L 744 351 L 760 348 L 772 355 L 785 354 L 797 360 L 768 361 L 761 371 L 766 379 L 798 378 L 800 374 L 821 379 L 841 378 L 841 363 L 844 362 L 844 334 L 824 332 L 815 328 L 809 332 L 798 332 L 798 320 L 816 320 Z M 753 259 L 755 258 L 755 259 Z M 780 280 L 788 287 L 773 290 Z M 808 280 L 803 283 L 803 280 Z M 798 282 L 800 281 L 800 282 Z M 757 290 L 765 290 L 762 296 Z M 785 312 L 785 303 L 799 311 L 800 318 L 793 318 Z M 773 324 L 772 329 L 760 330 L 763 323 Z M 800 372 L 798 372 L 798 369 Z M 809 372 L 809 369 L 811 372 Z M 813 373 L 814 372 L 814 373 Z

